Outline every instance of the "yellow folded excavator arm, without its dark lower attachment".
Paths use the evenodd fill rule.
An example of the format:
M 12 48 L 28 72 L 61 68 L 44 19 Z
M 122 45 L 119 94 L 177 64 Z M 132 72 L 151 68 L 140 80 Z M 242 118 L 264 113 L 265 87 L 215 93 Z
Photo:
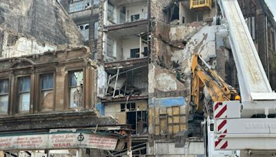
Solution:
M 195 105 L 197 112 L 202 112 L 203 110 L 200 96 L 204 87 L 207 88 L 213 102 L 240 99 L 237 90 L 221 79 L 217 72 L 201 59 L 199 54 L 193 54 L 192 56 L 191 72 L 190 103 Z

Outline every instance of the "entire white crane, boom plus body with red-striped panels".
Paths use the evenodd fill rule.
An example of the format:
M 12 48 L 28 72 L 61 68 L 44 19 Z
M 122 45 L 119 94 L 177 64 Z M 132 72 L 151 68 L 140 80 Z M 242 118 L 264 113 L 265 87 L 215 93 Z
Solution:
M 218 2 L 222 23 L 228 29 L 242 101 L 214 103 L 215 149 L 273 154 L 276 118 L 270 115 L 276 114 L 276 93 L 270 87 L 237 0 Z

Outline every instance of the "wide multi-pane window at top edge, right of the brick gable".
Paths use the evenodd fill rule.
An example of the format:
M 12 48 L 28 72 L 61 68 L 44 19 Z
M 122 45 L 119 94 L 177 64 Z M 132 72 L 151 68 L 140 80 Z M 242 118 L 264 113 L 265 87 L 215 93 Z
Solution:
M 86 10 L 91 6 L 90 4 L 91 0 L 70 1 L 68 12 L 71 13 Z

